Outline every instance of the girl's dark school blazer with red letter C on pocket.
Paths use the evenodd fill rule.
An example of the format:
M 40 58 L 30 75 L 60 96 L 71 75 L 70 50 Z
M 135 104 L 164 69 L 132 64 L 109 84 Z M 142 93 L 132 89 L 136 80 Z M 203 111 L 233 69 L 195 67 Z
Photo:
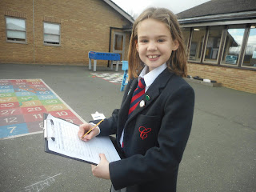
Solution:
M 100 125 L 100 135 L 116 134 L 126 157 L 110 162 L 111 182 L 115 190 L 127 187 L 127 192 L 176 191 L 178 165 L 192 126 L 194 90 L 166 68 L 142 98 L 145 106 L 138 104 L 127 119 L 137 85 L 137 78 L 128 83 L 120 110 Z

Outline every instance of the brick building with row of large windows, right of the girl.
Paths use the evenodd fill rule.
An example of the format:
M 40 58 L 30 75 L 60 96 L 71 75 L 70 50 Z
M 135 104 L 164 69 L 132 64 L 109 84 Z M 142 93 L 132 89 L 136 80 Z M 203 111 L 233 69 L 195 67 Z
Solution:
M 256 3 L 211 0 L 178 14 L 188 74 L 256 94 Z

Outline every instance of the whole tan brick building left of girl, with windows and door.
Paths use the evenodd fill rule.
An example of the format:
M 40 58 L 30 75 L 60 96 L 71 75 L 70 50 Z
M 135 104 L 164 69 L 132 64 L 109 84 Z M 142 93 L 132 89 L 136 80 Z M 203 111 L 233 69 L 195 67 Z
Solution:
M 88 65 L 90 50 L 125 60 L 134 22 L 110 0 L 1 0 L 0 15 L 0 63 Z

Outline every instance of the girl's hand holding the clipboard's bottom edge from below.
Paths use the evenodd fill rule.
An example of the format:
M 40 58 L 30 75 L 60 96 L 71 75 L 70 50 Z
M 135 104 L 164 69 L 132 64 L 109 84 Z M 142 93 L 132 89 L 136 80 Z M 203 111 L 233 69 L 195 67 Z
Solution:
M 99 157 L 101 158 L 101 162 L 98 163 L 98 166 L 92 165 L 91 171 L 93 172 L 94 177 L 110 179 L 110 162 L 106 160 L 105 154 L 99 154 Z

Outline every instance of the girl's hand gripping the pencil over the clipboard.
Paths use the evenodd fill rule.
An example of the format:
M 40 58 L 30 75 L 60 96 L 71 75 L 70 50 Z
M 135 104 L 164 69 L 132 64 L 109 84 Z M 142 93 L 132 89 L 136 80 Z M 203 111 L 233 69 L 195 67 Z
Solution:
M 88 132 L 88 130 L 90 130 L 91 128 L 93 128 L 94 126 L 90 125 L 89 123 L 84 123 L 82 124 L 82 126 L 79 126 L 79 130 L 78 130 L 78 138 L 80 138 L 82 141 L 89 141 L 90 139 L 94 138 L 95 136 L 97 136 L 99 134 L 99 129 L 98 126 L 94 128 L 94 130 L 90 131 L 89 134 L 86 134 Z M 82 138 L 82 136 L 86 134 L 86 136 L 84 138 Z

